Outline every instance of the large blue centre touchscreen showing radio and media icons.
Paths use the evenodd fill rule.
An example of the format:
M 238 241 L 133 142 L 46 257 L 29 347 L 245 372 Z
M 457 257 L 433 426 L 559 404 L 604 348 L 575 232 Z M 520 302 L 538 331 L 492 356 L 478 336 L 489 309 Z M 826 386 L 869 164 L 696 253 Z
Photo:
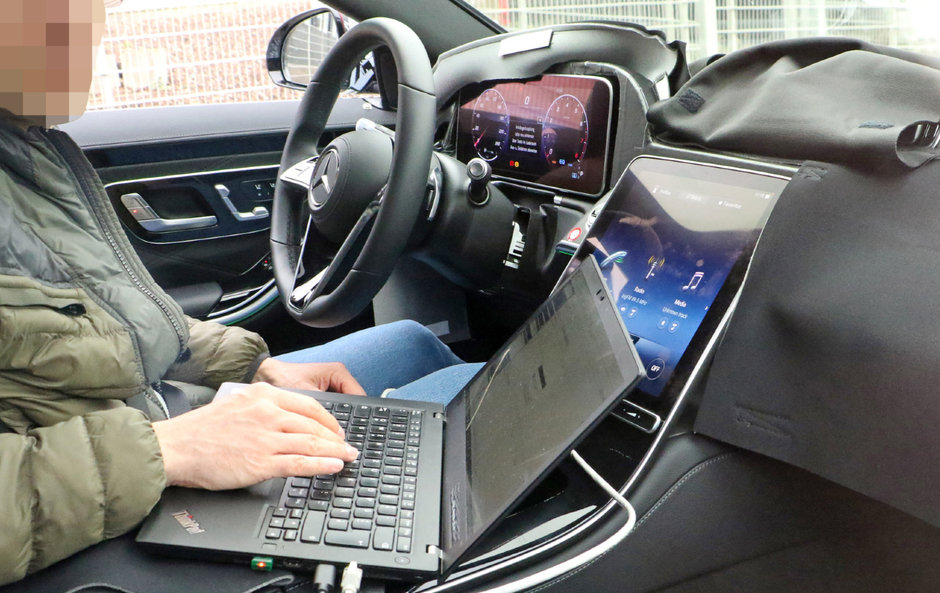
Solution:
M 640 390 L 662 392 L 726 281 L 737 289 L 729 275 L 785 185 L 695 163 L 631 164 L 586 243 L 646 366 Z

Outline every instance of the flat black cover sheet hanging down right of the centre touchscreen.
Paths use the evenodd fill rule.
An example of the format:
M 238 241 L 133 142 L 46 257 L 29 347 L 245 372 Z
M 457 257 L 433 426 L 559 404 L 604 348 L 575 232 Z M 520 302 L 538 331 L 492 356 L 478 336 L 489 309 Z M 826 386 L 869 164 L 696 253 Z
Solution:
M 810 162 L 768 221 L 696 431 L 940 525 L 940 162 Z

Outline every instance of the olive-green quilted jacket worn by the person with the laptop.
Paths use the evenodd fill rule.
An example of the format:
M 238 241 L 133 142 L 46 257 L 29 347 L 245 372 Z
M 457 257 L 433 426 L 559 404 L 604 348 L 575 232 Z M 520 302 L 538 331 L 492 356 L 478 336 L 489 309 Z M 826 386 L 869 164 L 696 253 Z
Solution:
M 71 139 L 3 114 L 0 584 L 150 511 L 166 483 L 150 427 L 167 415 L 161 381 L 244 381 L 267 351 L 256 334 L 185 317 Z

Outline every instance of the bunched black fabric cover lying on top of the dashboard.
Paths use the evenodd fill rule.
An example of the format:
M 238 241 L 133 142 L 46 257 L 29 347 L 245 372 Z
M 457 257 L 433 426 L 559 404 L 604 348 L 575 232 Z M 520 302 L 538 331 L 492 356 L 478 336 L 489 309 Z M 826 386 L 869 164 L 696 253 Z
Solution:
M 650 108 L 666 142 L 801 162 L 937 158 L 940 60 L 853 39 L 816 38 L 728 54 Z

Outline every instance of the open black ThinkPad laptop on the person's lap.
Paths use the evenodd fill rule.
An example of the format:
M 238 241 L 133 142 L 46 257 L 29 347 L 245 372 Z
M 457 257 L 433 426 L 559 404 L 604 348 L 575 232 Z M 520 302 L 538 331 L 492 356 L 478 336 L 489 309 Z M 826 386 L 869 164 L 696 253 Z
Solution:
M 367 576 L 443 578 L 643 376 L 589 258 L 446 406 L 306 392 L 361 451 L 340 473 L 168 488 L 137 541 L 255 567 L 355 561 Z

